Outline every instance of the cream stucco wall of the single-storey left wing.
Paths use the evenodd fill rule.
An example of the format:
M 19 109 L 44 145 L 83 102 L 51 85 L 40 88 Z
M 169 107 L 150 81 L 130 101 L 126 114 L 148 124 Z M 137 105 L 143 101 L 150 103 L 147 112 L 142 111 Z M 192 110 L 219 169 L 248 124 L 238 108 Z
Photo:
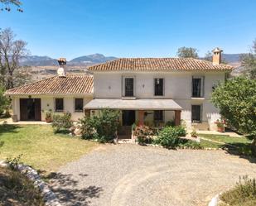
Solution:
M 18 121 L 20 120 L 20 98 L 28 98 L 27 95 L 19 95 L 12 96 L 12 113 L 17 115 Z M 55 112 L 55 98 L 64 98 L 64 112 L 71 113 L 71 119 L 73 121 L 77 121 L 79 118 L 85 116 L 85 113 L 77 113 L 75 112 L 75 98 L 84 98 L 84 105 L 88 103 L 93 95 L 59 95 L 59 96 L 51 96 L 51 95 L 31 95 L 31 98 L 41 98 L 41 121 L 45 121 L 45 112 L 52 111 Z

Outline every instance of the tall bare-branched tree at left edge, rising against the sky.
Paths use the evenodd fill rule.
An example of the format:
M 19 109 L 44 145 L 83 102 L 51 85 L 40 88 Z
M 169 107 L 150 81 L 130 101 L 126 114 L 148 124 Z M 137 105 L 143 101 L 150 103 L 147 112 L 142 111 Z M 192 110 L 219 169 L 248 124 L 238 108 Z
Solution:
M 19 60 L 27 55 L 27 43 L 22 40 L 15 40 L 10 28 L 0 32 L 0 82 L 6 89 L 14 87 L 14 80 L 17 81 Z M 15 79 L 16 78 L 16 79 Z

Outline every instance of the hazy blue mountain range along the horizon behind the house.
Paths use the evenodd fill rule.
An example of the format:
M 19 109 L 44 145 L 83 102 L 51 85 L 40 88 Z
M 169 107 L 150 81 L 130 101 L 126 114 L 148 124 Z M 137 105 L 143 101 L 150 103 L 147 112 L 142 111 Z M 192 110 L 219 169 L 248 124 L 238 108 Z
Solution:
M 239 65 L 239 56 L 242 54 L 223 54 L 222 57 L 227 61 L 230 65 Z M 104 56 L 102 54 L 94 54 L 94 55 L 83 55 L 80 57 L 76 57 L 73 60 L 67 62 L 67 65 L 70 66 L 89 66 L 104 63 L 109 60 L 115 60 L 117 57 L 114 56 Z M 58 65 L 56 59 L 53 59 L 49 56 L 38 56 L 38 55 L 29 55 L 22 57 L 20 64 L 25 66 L 53 66 Z

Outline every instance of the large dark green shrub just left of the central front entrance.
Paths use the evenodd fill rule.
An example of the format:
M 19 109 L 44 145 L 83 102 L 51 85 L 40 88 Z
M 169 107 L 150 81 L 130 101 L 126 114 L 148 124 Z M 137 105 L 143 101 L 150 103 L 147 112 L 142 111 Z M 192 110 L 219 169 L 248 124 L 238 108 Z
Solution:
M 103 109 L 98 115 L 80 120 L 82 138 L 97 139 L 100 142 L 113 141 L 118 131 L 120 112 Z

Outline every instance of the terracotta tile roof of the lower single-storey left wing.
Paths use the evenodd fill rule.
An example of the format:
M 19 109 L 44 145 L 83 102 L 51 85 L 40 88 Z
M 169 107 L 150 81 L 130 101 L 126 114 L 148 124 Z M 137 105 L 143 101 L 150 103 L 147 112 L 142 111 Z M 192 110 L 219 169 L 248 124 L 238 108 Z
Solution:
M 93 93 L 94 78 L 87 74 L 66 74 L 65 77 L 54 76 L 48 79 L 9 89 L 12 94 L 85 94 Z

